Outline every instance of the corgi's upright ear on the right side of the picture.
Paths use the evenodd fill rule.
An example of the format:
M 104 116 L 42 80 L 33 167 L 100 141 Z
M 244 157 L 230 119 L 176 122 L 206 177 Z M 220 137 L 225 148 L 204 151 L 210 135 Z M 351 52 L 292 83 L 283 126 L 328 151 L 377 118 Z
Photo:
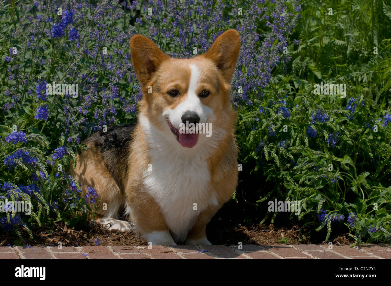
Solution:
M 239 55 L 240 36 L 236 30 L 227 30 L 217 37 L 204 57 L 213 60 L 229 83 Z

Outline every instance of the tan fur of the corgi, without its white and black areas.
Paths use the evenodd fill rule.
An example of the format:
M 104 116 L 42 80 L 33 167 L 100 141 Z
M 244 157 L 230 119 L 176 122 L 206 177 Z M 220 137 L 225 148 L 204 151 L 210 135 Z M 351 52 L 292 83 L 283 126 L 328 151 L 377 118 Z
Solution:
M 208 52 L 192 59 L 170 59 L 152 41 L 140 35 L 133 36 L 130 45 L 133 67 L 143 92 L 143 98 L 138 103 L 139 114 L 145 115 L 159 130 L 166 128 L 163 124 L 167 123 L 161 119 L 161 114 L 167 108 L 174 110 L 187 98 L 191 70 L 186 67 L 195 64 L 199 69 L 196 92 L 198 94 L 204 89 L 210 91 L 208 97 L 200 100 L 203 105 L 213 110 L 213 115 L 218 119 L 213 122 L 213 129 L 227 131 L 219 145 L 214 146 L 206 158 L 211 178 L 207 192 L 215 194 L 218 204 L 199 202 L 205 208 L 188 232 L 187 240 L 206 238 L 206 224 L 222 204 L 230 199 L 237 186 L 238 150 L 233 134 L 236 112 L 230 107 L 229 82 L 239 54 L 239 34 L 235 30 L 224 32 Z M 149 86 L 152 86 L 151 94 L 147 92 Z M 167 94 L 171 89 L 177 89 L 181 96 L 172 97 Z M 121 176 L 123 178 L 119 178 L 121 187 L 118 187 L 115 178 L 102 162 L 102 150 L 93 144 L 87 147 L 87 151 L 77 156 L 76 169 L 70 170 L 72 176 L 82 185 L 82 195 L 86 193 L 87 187 L 93 187 L 97 190 L 101 202 L 108 203 L 108 207 L 117 204 L 117 201 L 123 201 L 129 206 L 131 220 L 144 232 L 168 231 L 169 227 L 159 205 L 145 191 L 143 184 L 143 172 L 151 162 L 151 149 L 140 124 L 133 131 L 129 157 L 118 158 L 122 159 L 118 160 L 118 164 L 127 167 L 127 172 L 124 171 Z M 178 144 L 178 147 L 181 146 Z M 104 215 L 104 212 L 100 211 L 99 214 Z

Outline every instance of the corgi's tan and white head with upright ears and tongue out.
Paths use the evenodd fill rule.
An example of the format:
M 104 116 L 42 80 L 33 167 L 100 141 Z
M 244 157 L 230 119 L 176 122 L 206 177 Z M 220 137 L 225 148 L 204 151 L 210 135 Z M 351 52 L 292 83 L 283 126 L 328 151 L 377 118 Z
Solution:
M 213 141 L 213 133 L 217 140 L 232 131 L 230 81 L 240 48 L 236 30 L 224 32 L 206 53 L 191 59 L 170 58 L 141 35 L 133 36 L 130 46 L 143 93 L 139 112 L 164 140 L 191 148 Z

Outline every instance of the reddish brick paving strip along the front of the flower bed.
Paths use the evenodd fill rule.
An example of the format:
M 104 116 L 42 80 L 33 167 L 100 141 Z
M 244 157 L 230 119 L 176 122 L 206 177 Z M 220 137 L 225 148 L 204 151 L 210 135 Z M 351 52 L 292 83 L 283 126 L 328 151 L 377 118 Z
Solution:
M 391 245 L 0 247 L 0 259 L 391 259 Z

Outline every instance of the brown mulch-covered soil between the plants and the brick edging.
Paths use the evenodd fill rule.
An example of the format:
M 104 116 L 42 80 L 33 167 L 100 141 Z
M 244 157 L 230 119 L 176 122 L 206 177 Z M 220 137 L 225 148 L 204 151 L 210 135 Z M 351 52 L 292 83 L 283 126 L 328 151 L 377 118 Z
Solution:
M 240 225 L 224 226 L 217 222 L 210 222 L 207 226 L 207 235 L 214 245 L 237 245 L 243 244 L 310 244 L 322 243 L 310 241 L 305 236 L 299 237 L 300 227 L 276 227 L 273 224 L 266 225 Z M 27 234 L 23 233 L 25 237 Z M 110 233 L 100 225 L 95 224 L 88 230 L 68 229 L 61 223 L 56 228 L 40 227 L 35 229 L 33 240 L 28 239 L 22 245 L 45 245 L 57 246 L 61 242 L 63 246 L 88 246 L 88 245 L 146 245 L 147 242 L 139 238 L 136 233 Z M 0 233 L 0 246 L 15 245 L 14 236 Z M 339 236 L 331 240 L 337 245 L 346 245 L 353 242 L 348 236 Z

